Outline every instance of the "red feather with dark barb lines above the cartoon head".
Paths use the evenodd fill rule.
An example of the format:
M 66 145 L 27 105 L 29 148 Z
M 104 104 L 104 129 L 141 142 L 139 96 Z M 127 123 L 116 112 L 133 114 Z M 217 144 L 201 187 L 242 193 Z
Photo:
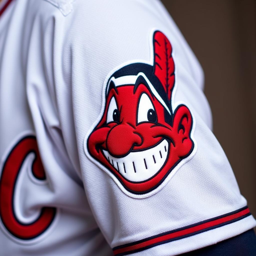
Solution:
M 153 45 L 154 74 L 160 80 L 170 102 L 175 81 L 172 46 L 168 38 L 160 31 L 155 31 Z

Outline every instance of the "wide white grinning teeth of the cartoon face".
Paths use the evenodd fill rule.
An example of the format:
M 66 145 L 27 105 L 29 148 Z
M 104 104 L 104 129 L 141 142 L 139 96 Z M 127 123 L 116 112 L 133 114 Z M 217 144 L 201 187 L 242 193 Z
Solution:
M 168 155 L 167 140 L 144 151 L 131 152 L 125 157 L 116 158 L 103 150 L 111 165 L 126 179 L 141 182 L 154 176 L 164 165 Z

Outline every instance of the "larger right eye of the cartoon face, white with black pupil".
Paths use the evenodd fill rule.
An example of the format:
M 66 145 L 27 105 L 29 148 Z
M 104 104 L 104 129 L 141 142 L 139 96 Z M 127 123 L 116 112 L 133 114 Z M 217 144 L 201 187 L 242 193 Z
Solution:
M 141 94 L 138 104 L 137 123 L 140 122 L 157 122 L 155 108 L 146 93 Z

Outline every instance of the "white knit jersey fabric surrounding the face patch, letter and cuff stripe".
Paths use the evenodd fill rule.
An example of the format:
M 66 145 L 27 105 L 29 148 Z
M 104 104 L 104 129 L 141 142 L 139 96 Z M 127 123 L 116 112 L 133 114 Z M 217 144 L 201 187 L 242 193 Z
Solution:
M 137 199 L 88 159 L 83 141 L 100 114 L 106 76 L 124 62 L 150 60 L 153 28 L 173 46 L 174 104 L 193 112 L 198 149 L 163 189 Z M 59 209 L 35 241 L 16 239 L 1 224 L 1 255 L 112 255 L 113 247 L 247 205 L 211 131 L 202 68 L 159 1 L 14 0 L 0 17 L 0 61 L 1 164 L 16 138 L 32 131 L 48 180 L 42 188 L 24 176 L 19 212 L 26 219 L 34 207 Z M 176 255 L 254 226 L 249 216 L 134 255 Z

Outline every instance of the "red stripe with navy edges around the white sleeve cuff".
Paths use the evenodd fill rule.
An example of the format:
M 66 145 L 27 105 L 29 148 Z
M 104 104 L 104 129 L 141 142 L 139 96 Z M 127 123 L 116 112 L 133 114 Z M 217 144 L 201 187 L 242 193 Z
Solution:
M 225 215 L 221 215 L 212 219 L 201 221 L 193 225 L 186 226 L 184 228 L 179 228 L 173 231 L 161 233 L 156 236 L 142 239 L 137 242 L 124 244 L 122 246 L 117 246 L 113 248 L 113 252 L 115 256 L 121 256 L 121 255 L 127 255 L 127 254 L 138 252 L 138 251 L 143 251 L 143 250 L 152 248 L 154 246 L 157 246 L 159 244 L 164 244 L 174 240 L 193 236 L 195 234 L 208 231 L 210 229 L 215 229 L 215 228 L 233 223 L 249 215 L 251 215 L 251 213 L 249 208 L 246 206 L 237 211 L 233 211 Z

